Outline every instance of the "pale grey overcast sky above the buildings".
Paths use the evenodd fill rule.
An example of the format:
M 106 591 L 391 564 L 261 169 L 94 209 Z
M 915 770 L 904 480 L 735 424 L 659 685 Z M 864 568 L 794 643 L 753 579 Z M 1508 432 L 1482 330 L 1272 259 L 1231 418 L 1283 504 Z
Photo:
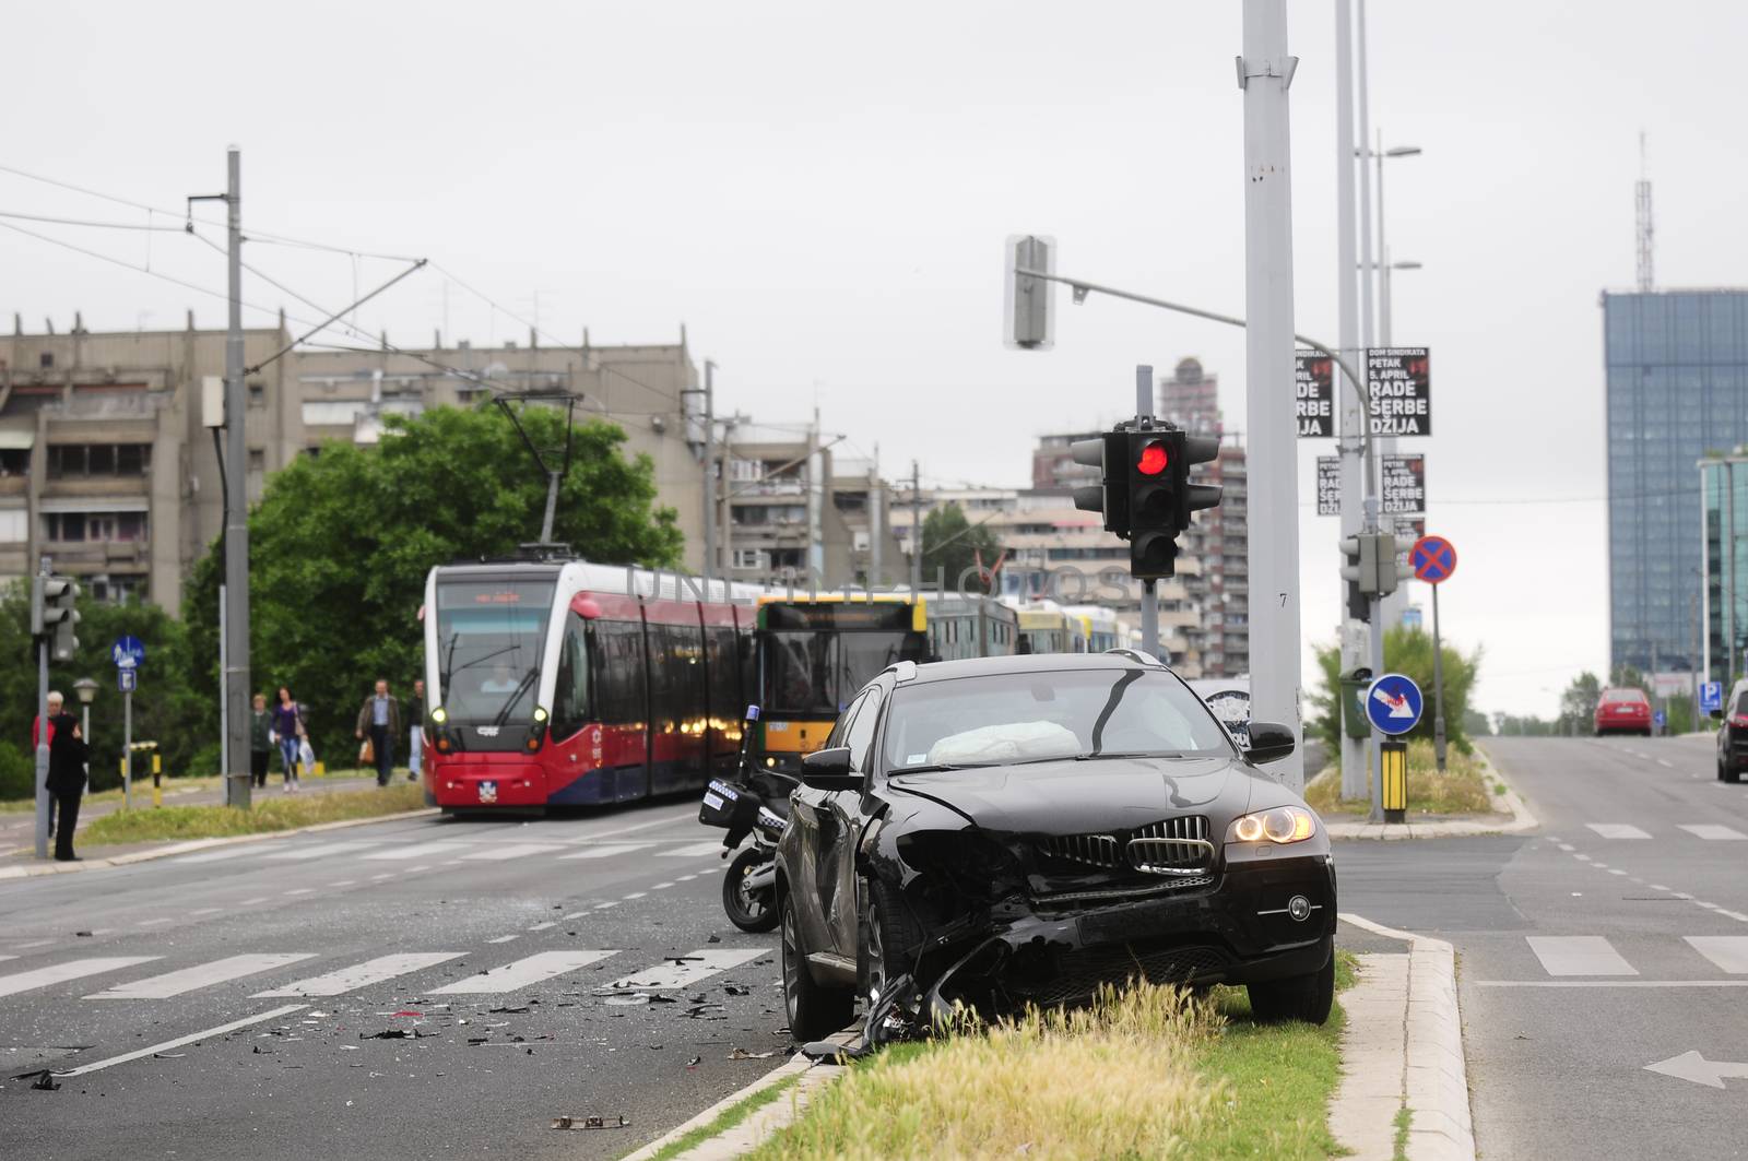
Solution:
M 1288 9 L 1297 327 L 1334 343 L 1334 2 Z M 1054 234 L 1065 273 L 1241 311 L 1241 5 L 857 10 L 12 5 L 0 164 L 178 212 L 224 187 L 238 143 L 255 229 L 432 257 L 510 313 L 538 302 L 572 343 L 685 323 L 720 365 L 718 407 L 804 421 L 816 404 L 895 476 L 914 456 L 928 483 L 1023 484 L 1035 435 L 1117 418 L 1134 364 L 1183 355 L 1243 428 L 1238 330 L 1065 295 L 1054 351 L 1000 341 L 1016 231 Z M 1748 283 L 1745 42 L 1729 0 L 1370 5 L 1372 124 L 1425 149 L 1388 177 L 1391 250 L 1425 262 L 1397 280 L 1395 337 L 1433 365 L 1437 435 L 1404 442 L 1428 455 L 1430 530 L 1461 553 L 1444 629 L 1486 649 L 1488 710 L 1550 713 L 1578 668 L 1606 666 L 1598 292 L 1633 283 L 1640 129 L 1659 283 Z M 9 173 L 0 210 L 164 224 Z M 224 287 L 222 257 L 173 233 L 30 227 Z M 332 308 L 395 269 L 250 261 Z M 420 273 L 360 323 L 526 339 L 446 283 Z M 257 280 L 246 297 L 313 313 Z M 175 327 L 191 306 L 224 323 L 220 301 L 0 231 L 0 311 L 30 330 L 75 309 Z M 1302 505 L 1318 451 L 1301 446 Z M 1306 633 L 1327 640 L 1335 521 L 1302 512 Z

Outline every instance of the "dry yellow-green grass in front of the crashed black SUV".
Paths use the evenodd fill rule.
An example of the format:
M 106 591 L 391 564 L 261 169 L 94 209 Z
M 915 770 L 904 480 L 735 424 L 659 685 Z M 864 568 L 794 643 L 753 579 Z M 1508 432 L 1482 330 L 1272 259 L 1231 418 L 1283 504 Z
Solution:
M 1337 958 L 1337 990 L 1355 960 Z M 752 1156 L 1327 1158 L 1342 1012 L 1259 1025 L 1239 988 L 1133 988 L 1073 1012 L 897 1046 Z

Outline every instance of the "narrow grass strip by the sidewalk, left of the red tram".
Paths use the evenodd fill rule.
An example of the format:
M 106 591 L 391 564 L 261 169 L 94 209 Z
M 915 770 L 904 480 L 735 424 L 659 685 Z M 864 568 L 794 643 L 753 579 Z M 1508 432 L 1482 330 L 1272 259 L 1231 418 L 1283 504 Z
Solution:
M 79 839 L 91 846 L 220 839 L 238 834 L 295 831 L 297 827 L 313 827 L 323 822 L 378 818 L 381 815 L 420 810 L 421 806 L 425 806 L 423 787 L 400 782 L 379 790 L 365 789 L 344 794 L 264 797 L 250 810 L 232 810 L 229 806 L 117 810 L 80 831 Z

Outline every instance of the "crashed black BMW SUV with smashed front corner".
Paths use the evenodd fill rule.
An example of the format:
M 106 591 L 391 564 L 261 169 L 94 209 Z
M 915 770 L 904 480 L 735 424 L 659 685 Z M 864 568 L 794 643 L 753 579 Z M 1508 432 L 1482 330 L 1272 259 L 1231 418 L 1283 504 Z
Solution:
M 1297 794 L 1134 652 L 898 663 L 808 755 L 778 845 L 801 1040 L 871 1040 L 960 1000 L 1082 1004 L 1129 979 L 1248 984 L 1259 1019 L 1328 1018 L 1335 867 Z M 900 991 L 904 993 L 900 997 Z

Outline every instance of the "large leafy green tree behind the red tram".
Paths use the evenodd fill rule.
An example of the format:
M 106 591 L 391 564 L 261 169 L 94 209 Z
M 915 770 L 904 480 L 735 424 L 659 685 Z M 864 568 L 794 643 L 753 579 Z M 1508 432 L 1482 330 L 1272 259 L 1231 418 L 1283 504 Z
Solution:
M 528 407 L 538 448 L 563 444 L 565 416 Z M 656 507 L 649 456 L 626 434 L 579 423 L 554 539 L 605 565 L 671 567 L 682 535 Z M 288 685 L 308 706 L 316 757 L 341 764 L 358 703 L 378 677 L 406 694 L 420 673 L 425 577 L 454 560 L 514 556 L 540 533 L 545 479 L 495 407 L 390 416 L 381 444 L 330 442 L 267 481 L 248 519 L 253 685 Z M 196 567 L 184 619 L 196 685 L 217 701 L 218 546 Z

